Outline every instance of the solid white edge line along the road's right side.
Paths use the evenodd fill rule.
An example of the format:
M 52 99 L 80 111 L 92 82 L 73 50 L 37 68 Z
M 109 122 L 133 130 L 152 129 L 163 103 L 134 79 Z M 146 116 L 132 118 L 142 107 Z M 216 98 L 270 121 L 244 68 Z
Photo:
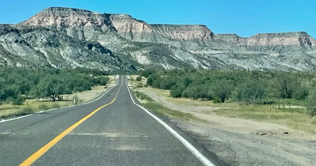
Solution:
M 126 77 L 127 78 L 127 77 Z M 164 126 L 169 132 L 172 133 L 174 137 L 176 137 L 187 149 L 189 149 L 204 165 L 206 166 L 216 166 L 213 164 L 209 159 L 207 159 L 200 151 L 198 151 L 192 144 L 190 144 L 185 138 L 183 138 L 179 133 L 177 133 L 173 128 L 167 125 L 167 123 L 163 122 L 161 119 L 159 119 L 154 114 L 150 113 L 147 109 L 143 108 L 142 106 L 135 103 L 130 89 L 127 86 L 127 79 L 126 79 L 126 87 L 128 89 L 128 93 L 130 93 L 131 99 L 135 105 L 142 108 L 147 114 L 149 114 L 151 117 L 153 117 L 155 120 L 157 120 L 162 126 Z

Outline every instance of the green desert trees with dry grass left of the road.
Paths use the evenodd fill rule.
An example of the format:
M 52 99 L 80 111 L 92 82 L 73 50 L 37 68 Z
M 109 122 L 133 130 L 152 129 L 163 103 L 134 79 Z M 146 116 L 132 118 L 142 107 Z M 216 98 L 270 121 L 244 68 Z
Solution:
M 96 69 L 0 68 L 1 118 L 73 104 L 73 93 L 106 87 L 109 72 Z M 99 90 L 97 90 L 99 91 Z M 69 96 L 71 96 L 69 98 Z M 43 102 L 42 100 L 50 101 Z

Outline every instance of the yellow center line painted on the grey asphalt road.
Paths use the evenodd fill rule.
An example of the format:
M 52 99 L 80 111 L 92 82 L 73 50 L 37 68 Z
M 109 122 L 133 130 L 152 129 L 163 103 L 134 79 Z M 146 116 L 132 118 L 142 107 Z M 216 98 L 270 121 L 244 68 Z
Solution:
M 119 90 L 121 89 L 122 86 L 119 87 Z M 33 153 L 33 155 L 31 155 L 30 157 L 28 157 L 25 161 L 23 161 L 19 166 L 29 166 L 32 163 L 34 163 L 37 159 L 39 159 L 44 153 L 46 153 L 50 148 L 52 148 L 56 143 L 58 143 L 62 138 L 64 138 L 68 133 L 70 133 L 72 130 L 74 130 L 77 126 L 79 126 L 82 122 L 84 122 L 85 120 L 87 120 L 88 118 L 90 118 L 92 115 L 94 115 L 96 112 L 98 112 L 100 109 L 106 107 L 107 105 L 112 104 L 117 95 L 119 94 L 119 90 L 115 96 L 115 98 L 110 102 L 107 103 L 99 108 L 97 108 L 96 110 L 94 110 L 93 112 L 91 112 L 90 114 L 88 114 L 87 116 L 85 116 L 84 118 L 82 118 L 81 120 L 77 121 L 75 124 L 73 124 L 72 126 L 70 126 L 68 129 L 66 129 L 64 132 L 60 133 L 56 138 L 52 139 L 49 143 L 47 143 L 46 145 L 44 145 L 42 148 L 40 148 L 40 150 L 38 150 L 37 152 Z

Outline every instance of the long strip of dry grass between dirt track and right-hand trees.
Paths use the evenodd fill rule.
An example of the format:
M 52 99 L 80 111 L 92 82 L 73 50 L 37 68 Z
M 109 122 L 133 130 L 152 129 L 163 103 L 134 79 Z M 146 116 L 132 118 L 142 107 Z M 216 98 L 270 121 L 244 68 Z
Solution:
M 316 117 L 310 118 L 308 115 L 304 114 L 305 109 L 303 108 L 299 108 L 297 111 L 296 106 L 291 106 L 290 109 L 288 107 L 285 109 L 270 108 L 270 106 L 267 108 L 267 106 L 259 107 L 244 104 L 236 105 L 236 103 L 229 100 L 224 104 L 214 104 L 213 101 L 200 101 L 188 98 L 172 98 L 169 97 L 169 90 L 155 88 L 141 88 L 141 90 L 155 92 L 160 97 L 176 105 L 204 106 L 209 107 L 210 110 L 212 110 L 208 112 L 214 112 L 218 115 L 226 117 L 281 124 L 286 125 L 291 129 L 316 133 Z

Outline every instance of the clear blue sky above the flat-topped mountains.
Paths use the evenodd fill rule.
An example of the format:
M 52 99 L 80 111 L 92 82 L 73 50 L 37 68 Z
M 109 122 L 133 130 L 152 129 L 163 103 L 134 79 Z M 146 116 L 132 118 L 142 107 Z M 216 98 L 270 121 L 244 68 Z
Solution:
M 315 0 L 0 0 L 0 23 L 18 23 L 48 7 L 125 13 L 148 23 L 204 24 L 214 33 L 306 31 L 316 38 Z

